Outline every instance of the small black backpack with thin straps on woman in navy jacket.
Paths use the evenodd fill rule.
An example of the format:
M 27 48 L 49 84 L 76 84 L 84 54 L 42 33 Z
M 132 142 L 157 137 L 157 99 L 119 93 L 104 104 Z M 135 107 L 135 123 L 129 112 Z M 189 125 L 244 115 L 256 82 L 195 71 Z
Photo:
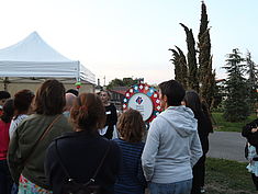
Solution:
M 75 181 L 75 179 L 72 179 L 69 175 L 68 170 L 65 168 L 65 164 L 61 161 L 61 157 L 60 157 L 60 153 L 57 148 L 57 139 L 55 140 L 55 148 L 56 148 L 58 161 L 59 161 L 65 174 L 68 176 L 68 179 L 66 180 L 66 183 L 63 185 L 61 193 L 63 194 L 101 194 L 101 186 L 96 184 L 96 176 L 98 175 L 99 170 L 102 167 L 104 159 L 106 158 L 106 156 L 109 153 L 110 144 L 109 144 L 108 149 L 106 149 L 103 158 L 101 159 L 100 164 L 97 168 L 93 176 L 86 183 L 78 183 Z

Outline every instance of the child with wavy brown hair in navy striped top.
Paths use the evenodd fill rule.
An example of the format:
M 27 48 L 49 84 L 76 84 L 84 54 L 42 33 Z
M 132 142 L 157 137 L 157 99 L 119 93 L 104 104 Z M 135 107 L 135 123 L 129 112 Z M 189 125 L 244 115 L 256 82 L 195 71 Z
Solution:
M 138 111 L 127 110 L 117 123 L 121 135 L 114 139 L 122 150 L 122 169 L 114 186 L 115 194 L 144 194 L 146 181 L 142 170 L 141 157 L 145 124 Z

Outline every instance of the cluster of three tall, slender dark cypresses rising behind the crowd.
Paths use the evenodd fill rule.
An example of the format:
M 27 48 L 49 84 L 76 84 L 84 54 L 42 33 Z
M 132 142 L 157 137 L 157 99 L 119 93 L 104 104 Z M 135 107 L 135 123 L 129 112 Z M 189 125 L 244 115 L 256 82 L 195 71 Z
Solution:
M 172 52 L 172 64 L 175 65 L 175 79 L 183 82 L 186 89 L 192 89 L 200 93 L 202 100 L 206 101 L 209 109 L 213 102 L 213 96 L 215 95 L 215 71 L 212 68 L 212 56 L 211 56 L 211 38 L 210 38 L 210 28 L 207 13 L 206 13 L 206 5 L 202 1 L 201 5 L 201 23 L 200 23 L 200 32 L 198 35 L 199 43 L 198 43 L 198 61 L 197 64 L 197 49 L 195 49 L 195 41 L 193 37 L 192 30 L 184 24 L 180 23 L 183 27 L 186 35 L 187 35 L 187 47 L 188 47 L 188 55 L 187 60 L 187 69 L 184 68 L 181 71 L 181 67 L 183 62 L 180 62 L 180 54 L 178 47 L 177 49 L 169 49 Z M 184 75 L 180 75 L 184 73 Z M 187 73 L 187 75 L 186 75 Z M 182 80 L 182 78 L 187 80 Z

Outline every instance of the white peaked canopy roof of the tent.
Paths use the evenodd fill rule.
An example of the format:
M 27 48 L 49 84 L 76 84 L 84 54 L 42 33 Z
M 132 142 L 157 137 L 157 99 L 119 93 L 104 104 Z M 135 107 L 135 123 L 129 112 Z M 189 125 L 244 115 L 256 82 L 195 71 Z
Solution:
M 0 49 L 0 77 L 75 78 L 96 83 L 94 75 L 80 61 L 60 55 L 36 32 Z

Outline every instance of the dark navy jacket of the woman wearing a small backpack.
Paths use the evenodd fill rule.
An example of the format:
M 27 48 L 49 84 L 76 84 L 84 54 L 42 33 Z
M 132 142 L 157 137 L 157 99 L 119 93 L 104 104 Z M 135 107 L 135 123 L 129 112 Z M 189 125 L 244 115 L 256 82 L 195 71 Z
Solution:
M 119 146 L 99 134 L 93 135 L 86 130 L 67 133 L 57 139 L 57 149 L 61 161 L 69 175 L 78 183 L 86 183 L 93 176 L 109 145 L 109 153 L 96 178 L 96 183 L 101 185 L 103 194 L 113 193 L 113 185 L 121 162 Z M 68 176 L 59 164 L 55 141 L 51 144 L 47 150 L 45 171 L 53 192 L 61 194 L 61 187 Z

